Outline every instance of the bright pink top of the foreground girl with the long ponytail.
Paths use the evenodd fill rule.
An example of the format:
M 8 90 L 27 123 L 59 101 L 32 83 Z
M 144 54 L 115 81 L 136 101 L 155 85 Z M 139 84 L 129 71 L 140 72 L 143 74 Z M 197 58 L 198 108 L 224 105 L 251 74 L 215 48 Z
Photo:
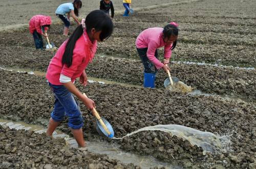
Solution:
M 86 31 L 84 31 L 83 35 L 76 41 L 73 50 L 72 65 L 69 68 L 66 64 L 62 66 L 62 55 L 65 51 L 67 41 L 62 43 L 58 48 L 47 69 L 46 78 L 52 85 L 62 85 L 59 81 L 60 74 L 70 77 L 71 81 L 74 82 L 82 74 L 89 61 L 92 62 L 94 53 L 96 52 L 96 40 L 92 43 Z

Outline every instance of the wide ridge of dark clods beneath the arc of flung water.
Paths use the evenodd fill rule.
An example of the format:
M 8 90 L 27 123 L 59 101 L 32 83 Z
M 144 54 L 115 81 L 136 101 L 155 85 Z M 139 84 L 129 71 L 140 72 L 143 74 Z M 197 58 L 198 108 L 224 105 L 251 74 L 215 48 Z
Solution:
M 47 126 L 54 97 L 45 77 L 6 70 L 0 72 L 1 117 Z M 210 166 L 223 165 L 231 168 L 254 165 L 255 104 L 218 96 L 190 95 L 115 84 L 102 85 L 98 82 L 89 83 L 86 88 L 80 87 L 78 83 L 76 86 L 95 101 L 97 111 L 112 124 L 116 137 L 145 126 L 178 124 L 221 136 L 230 135 L 231 141 L 217 156 L 204 156 L 201 148 L 158 131 L 140 132 L 122 140 L 109 139 L 109 142 L 117 142 L 126 151 L 149 154 L 166 161 L 173 161 L 174 156 L 175 162 L 184 167 L 204 168 L 204 162 Z M 78 103 L 84 118 L 82 130 L 85 139 L 108 139 L 97 134 L 92 113 L 80 101 Z M 70 133 L 67 122 L 68 119 L 58 128 Z M 91 138 L 87 133 L 95 135 Z

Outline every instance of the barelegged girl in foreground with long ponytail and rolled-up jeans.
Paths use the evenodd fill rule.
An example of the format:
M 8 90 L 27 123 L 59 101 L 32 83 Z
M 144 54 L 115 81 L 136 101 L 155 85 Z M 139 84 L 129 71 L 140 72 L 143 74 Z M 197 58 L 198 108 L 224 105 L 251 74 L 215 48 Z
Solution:
M 88 109 L 95 108 L 94 101 L 84 97 L 74 85 L 74 80 L 80 77 L 82 86 L 87 85 L 87 75 L 84 70 L 92 62 L 96 52 L 97 42 L 109 38 L 114 30 L 110 17 L 103 11 L 95 10 L 74 33 L 57 50 L 52 58 L 46 78 L 55 97 L 54 110 L 51 113 L 47 134 L 52 135 L 60 121 L 69 116 L 68 125 L 79 146 L 85 146 L 82 134 L 82 116 L 78 103 L 72 94 L 77 96 Z M 94 112 L 93 112 L 94 115 Z

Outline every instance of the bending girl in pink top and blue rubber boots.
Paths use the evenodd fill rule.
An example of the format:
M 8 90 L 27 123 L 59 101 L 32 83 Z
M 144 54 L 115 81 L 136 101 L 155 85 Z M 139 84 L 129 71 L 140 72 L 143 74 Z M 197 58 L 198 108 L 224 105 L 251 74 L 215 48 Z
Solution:
M 144 30 L 136 39 L 136 48 L 142 64 L 144 65 L 144 88 L 155 88 L 154 82 L 158 69 L 162 68 L 166 73 L 170 68 L 170 54 L 176 47 L 179 34 L 178 25 L 175 22 L 161 27 L 151 27 Z M 164 61 L 158 60 L 157 49 L 164 46 Z

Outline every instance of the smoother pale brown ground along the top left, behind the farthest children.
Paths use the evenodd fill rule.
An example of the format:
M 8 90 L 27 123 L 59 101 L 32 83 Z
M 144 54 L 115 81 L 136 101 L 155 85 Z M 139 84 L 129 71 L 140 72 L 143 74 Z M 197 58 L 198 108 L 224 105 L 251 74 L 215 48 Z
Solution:
M 193 0 L 198 1 L 198 0 Z M 74 1 L 70 1 L 74 2 Z M 114 8 L 115 8 L 115 14 L 121 14 L 124 12 L 123 3 L 119 0 L 112 0 Z M 170 3 L 180 3 L 180 2 L 187 2 L 185 0 L 173 0 L 172 2 L 169 2 L 168 0 L 158 0 L 156 1 L 147 1 L 147 0 L 140 0 L 140 1 L 133 1 L 131 4 L 131 7 L 139 10 L 145 10 L 145 7 L 147 9 L 154 9 L 155 6 L 158 5 L 168 5 Z M 63 4 L 66 2 L 63 2 L 62 0 L 56 0 L 56 1 L 36 1 L 36 0 L 26 0 L 26 1 L 19 1 L 19 0 L 12 0 L 11 2 L 8 1 L 2 1 L 0 2 L 0 14 L 1 14 L 1 20 L 0 20 L 0 30 L 8 31 L 10 29 L 19 29 L 20 26 L 26 25 L 28 26 L 30 18 L 32 18 L 34 15 L 46 15 L 50 16 L 51 20 L 53 22 L 60 22 L 60 19 L 56 16 L 55 11 L 57 7 L 60 4 Z M 150 7 L 150 8 L 148 8 Z M 86 18 L 86 15 L 89 14 L 93 10 L 99 9 L 99 2 L 92 3 L 88 0 L 82 1 L 82 7 L 79 10 L 79 19 Z M 16 18 L 15 22 L 13 19 L 10 18 Z M 73 21 L 72 16 L 70 19 Z M 77 26 L 76 23 L 71 23 L 72 26 Z M 64 27 L 64 26 L 63 26 Z

